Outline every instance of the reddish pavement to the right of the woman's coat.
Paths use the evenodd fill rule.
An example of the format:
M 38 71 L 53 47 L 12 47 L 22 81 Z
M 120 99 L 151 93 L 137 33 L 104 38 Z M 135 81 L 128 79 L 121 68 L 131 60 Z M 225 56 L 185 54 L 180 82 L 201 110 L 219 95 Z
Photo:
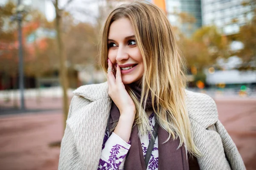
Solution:
M 256 99 L 217 100 L 219 119 L 241 154 L 247 170 L 256 170 Z

